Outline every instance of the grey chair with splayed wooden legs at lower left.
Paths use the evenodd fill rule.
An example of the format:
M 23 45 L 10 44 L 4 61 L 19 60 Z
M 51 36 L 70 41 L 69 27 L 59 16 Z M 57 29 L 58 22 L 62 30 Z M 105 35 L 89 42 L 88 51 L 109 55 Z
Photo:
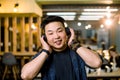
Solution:
M 2 63 L 5 65 L 5 70 L 2 76 L 2 80 L 4 80 L 9 69 L 12 70 L 14 79 L 17 80 L 18 72 L 17 72 L 17 67 L 16 67 L 17 60 L 15 56 L 10 52 L 4 53 L 2 57 Z

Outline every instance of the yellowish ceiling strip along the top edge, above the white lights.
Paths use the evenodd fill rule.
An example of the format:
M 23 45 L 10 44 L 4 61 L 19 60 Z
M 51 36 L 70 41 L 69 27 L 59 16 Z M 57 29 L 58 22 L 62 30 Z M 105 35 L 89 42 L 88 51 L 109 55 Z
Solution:
M 120 4 L 120 0 L 36 0 L 38 4 Z

